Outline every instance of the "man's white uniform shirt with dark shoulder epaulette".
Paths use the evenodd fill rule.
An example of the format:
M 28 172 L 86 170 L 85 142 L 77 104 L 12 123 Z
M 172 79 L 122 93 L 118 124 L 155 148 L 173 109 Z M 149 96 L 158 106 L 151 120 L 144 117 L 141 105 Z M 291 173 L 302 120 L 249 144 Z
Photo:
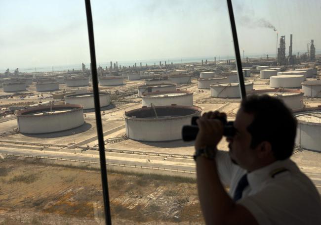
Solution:
M 228 152 L 216 155 L 221 181 L 233 198 L 244 169 L 231 162 Z M 272 174 L 279 169 L 287 171 Z M 247 175 L 249 185 L 237 201 L 260 225 L 321 225 L 321 198 L 312 181 L 290 159 L 277 161 Z

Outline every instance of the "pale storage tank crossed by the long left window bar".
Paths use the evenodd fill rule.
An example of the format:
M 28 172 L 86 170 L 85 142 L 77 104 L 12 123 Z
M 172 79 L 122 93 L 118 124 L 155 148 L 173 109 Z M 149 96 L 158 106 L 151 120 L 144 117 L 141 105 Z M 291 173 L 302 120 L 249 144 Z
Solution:
M 107 92 L 99 92 L 100 107 L 105 107 L 110 104 L 110 95 Z M 76 93 L 65 95 L 66 104 L 82 105 L 83 109 L 95 108 L 94 93 Z

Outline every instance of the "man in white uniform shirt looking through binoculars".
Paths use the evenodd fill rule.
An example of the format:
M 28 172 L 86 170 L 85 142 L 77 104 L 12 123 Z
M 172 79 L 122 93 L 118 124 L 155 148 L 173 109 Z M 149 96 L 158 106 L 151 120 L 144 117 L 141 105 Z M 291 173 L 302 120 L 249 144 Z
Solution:
M 227 137 L 229 152 L 218 151 L 224 113 L 197 120 L 197 182 L 206 224 L 321 225 L 320 195 L 289 159 L 296 120 L 277 98 L 249 96 L 241 102 Z M 229 187 L 229 193 L 225 187 Z

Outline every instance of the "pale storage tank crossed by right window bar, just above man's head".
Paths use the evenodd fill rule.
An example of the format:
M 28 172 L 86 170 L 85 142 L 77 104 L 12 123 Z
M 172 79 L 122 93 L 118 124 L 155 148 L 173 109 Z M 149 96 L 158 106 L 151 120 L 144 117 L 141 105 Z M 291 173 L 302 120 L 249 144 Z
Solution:
M 245 91 L 253 90 L 253 83 L 245 83 Z M 239 83 L 218 83 L 210 86 L 211 96 L 217 98 L 239 98 L 241 90 Z

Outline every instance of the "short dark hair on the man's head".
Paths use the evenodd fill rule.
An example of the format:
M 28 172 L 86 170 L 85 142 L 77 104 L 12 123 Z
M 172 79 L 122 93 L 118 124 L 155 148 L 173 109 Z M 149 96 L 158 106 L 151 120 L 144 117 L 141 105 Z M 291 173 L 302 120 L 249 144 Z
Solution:
M 242 100 L 241 109 L 254 114 L 253 122 L 247 127 L 252 135 L 251 148 L 268 141 L 277 160 L 292 155 L 297 122 L 282 100 L 267 94 L 249 95 Z

